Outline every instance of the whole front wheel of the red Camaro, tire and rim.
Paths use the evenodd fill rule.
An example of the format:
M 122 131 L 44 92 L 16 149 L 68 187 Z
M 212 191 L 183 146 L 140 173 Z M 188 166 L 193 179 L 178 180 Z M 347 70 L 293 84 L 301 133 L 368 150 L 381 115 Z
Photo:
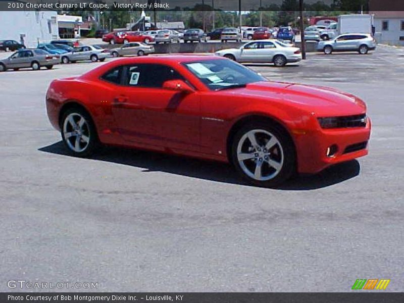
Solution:
M 258 186 L 277 186 L 295 171 L 293 143 L 284 130 L 271 123 L 241 128 L 232 141 L 231 155 L 237 172 Z

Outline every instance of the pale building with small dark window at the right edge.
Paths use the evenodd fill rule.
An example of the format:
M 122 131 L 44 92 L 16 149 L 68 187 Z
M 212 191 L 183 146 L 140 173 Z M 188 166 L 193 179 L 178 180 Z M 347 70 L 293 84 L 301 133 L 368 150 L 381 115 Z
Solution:
M 379 43 L 404 46 L 404 12 L 380 11 L 374 14 L 375 38 Z

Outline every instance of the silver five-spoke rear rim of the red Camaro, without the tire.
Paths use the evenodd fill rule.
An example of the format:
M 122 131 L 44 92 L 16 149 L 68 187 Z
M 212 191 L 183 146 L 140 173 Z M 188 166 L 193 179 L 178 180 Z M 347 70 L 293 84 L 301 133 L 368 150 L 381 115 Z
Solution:
M 90 142 L 88 122 L 78 113 L 68 115 L 63 123 L 63 135 L 69 148 L 81 153 Z

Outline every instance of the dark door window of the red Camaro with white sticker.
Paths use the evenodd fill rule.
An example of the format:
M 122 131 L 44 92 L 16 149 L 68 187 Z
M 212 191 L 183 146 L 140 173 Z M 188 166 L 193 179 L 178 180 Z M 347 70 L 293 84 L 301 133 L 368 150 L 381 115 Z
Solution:
M 173 68 L 160 64 L 139 64 L 128 67 L 126 83 L 129 86 L 163 87 L 168 80 L 184 78 Z

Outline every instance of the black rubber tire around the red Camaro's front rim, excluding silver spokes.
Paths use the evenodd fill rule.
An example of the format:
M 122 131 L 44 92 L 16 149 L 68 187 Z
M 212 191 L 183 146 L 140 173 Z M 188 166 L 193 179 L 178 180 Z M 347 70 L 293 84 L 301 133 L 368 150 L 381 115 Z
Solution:
M 276 162 L 278 162 L 279 164 L 279 168 L 275 169 L 272 168 L 272 166 L 270 166 L 269 164 L 267 164 L 266 161 L 268 160 L 264 160 L 264 158 L 260 158 L 261 153 L 264 154 L 264 149 L 260 149 L 260 151 L 247 151 L 247 153 L 251 153 L 251 154 L 255 154 L 258 155 L 255 159 L 248 159 L 248 160 L 244 160 L 242 161 L 242 163 L 245 165 L 245 167 L 251 167 L 252 170 L 254 170 L 254 166 L 257 165 L 257 162 L 263 161 L 263 168 L 262 169 L 267 169 L 269 173 L 269 179 L 267 180 L 257 180 L 254 177 L 255 176 L 249 176 L 247 175 L 247 173 L 243 170 L 243 168 L 241 167 L 241 164 L 238 160 L 237 157 L 237 149 L 238 149 L 238 145 L 240 140 L 243 139 L 243 137 L 250 131 L 253 130 L 264 130 L 270 134 L 272 134 L 278 141 L 278 143 L 276 145 L 274 145 L 272 148 L 270 148 L 270 150 L 266 151 L 266 153 L 269 153 L 268 157 L 265 157 L 265 159 L 269 158 L 270 160 L 276 160 Z M 269 140 L 265 137 L 256 137 L 257 138 L 257 142 L 259 143 L 259 145 L 264 145 L 265 143 L 268 142 Z M 268 141 L 266 141 L 266 139 Z M 272 136 L 271 136 L 272 139 Z M 244 146 L 243 144 L 241 145 L 243 146 L 243 148 L 247 147 Z M 262 147 L 264 147 L 262 146 Z M 242 152 L 242 151 L 241 151 Z M 276 159 L 274 159 L 274 157 Z M 287 134 L 287 132 L 280 126 L 276 125 L 276 124 L 272 124 L 272 123 L 268 123 L 265 121 L 257 121 L 257 122 L 251 122 L 246 124 L 245 126 L 243 126 L 242 128 L 240 128 L 237 133 L 234 135 L 232 142 L 231 142 L 231 161 L 233 166 L 235 167 L 236 171 L 238 172 L 238 174 L 246 181 L 248 181 L 251 184 L 257 185 L 257 186 L 262 186 L 262 187 L 275 187 L 279 184 L 281 184 L 282 182 L 286 181 L 287 179 L 289 179 L 292 175 L 294 175 L 295 171 L 296 171 L 296 153 L 295 153 L 295 149 L 294 149 L 294 145 L 292 140 L 290 139 L 289 135 Z M 265 166 L 265 167 L 264 167 Z M 252 173 L 251 170 L 251 173 Z M 273 177 L 271 177 L 271 171 L 275 170 L 276 174 L 274 174 Z M 262 171 L 262 170 L 261 170 Z M 263 174 L 264 175 L 264 174 Z

